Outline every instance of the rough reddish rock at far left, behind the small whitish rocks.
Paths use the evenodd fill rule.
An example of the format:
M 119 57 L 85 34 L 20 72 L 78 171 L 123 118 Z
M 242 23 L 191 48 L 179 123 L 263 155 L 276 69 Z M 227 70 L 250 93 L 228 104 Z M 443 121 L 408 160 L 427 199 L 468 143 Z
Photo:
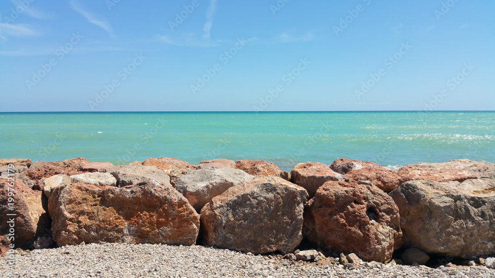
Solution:
M 53 162 L 36 161 L 23 174 L 35 182 L 57 174 L 72 176 L 83 173 L 81 165 L 87 162 L 88 160 L 82 157 Z

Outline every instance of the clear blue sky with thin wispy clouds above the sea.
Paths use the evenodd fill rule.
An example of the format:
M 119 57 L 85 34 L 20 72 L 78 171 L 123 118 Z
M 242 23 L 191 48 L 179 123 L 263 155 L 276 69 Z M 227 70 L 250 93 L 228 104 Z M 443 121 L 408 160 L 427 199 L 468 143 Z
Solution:
M 1 0 L 0 111 L 494 110 L 489 0 Z

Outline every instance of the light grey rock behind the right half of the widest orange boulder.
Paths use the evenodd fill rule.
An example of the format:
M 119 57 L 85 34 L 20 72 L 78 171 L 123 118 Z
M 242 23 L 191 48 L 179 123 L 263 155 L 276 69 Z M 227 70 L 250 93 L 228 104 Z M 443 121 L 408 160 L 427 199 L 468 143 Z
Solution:
M 105 169 L 117 180 L 117 186 L 146 184 L 149 180 L 170 184 L 170 177 L 163 170 L 154 166 L 118 165 Z

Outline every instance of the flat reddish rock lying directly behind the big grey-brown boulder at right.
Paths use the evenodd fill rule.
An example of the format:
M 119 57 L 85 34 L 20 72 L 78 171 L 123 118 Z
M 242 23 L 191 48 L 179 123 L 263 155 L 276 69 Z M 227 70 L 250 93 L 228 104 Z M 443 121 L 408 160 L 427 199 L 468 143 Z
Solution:
M 468 179 L 478 179 L 478 175 L 459 169 L 441 168 L 418 168 L 415 166 L 404 166 L 393 171 L 402 181 L 434 181 L 434 182 L 463 182 Z

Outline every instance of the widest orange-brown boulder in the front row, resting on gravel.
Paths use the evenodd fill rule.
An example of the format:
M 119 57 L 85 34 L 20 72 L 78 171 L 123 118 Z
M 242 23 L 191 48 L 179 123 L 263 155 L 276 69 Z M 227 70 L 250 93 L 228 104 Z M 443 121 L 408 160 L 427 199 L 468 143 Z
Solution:
M 97 243 L 193 245 L 199 215 L 172 186 L 148 180 L 126 187 L 61 185 L 48 209 L 57 246 Z

